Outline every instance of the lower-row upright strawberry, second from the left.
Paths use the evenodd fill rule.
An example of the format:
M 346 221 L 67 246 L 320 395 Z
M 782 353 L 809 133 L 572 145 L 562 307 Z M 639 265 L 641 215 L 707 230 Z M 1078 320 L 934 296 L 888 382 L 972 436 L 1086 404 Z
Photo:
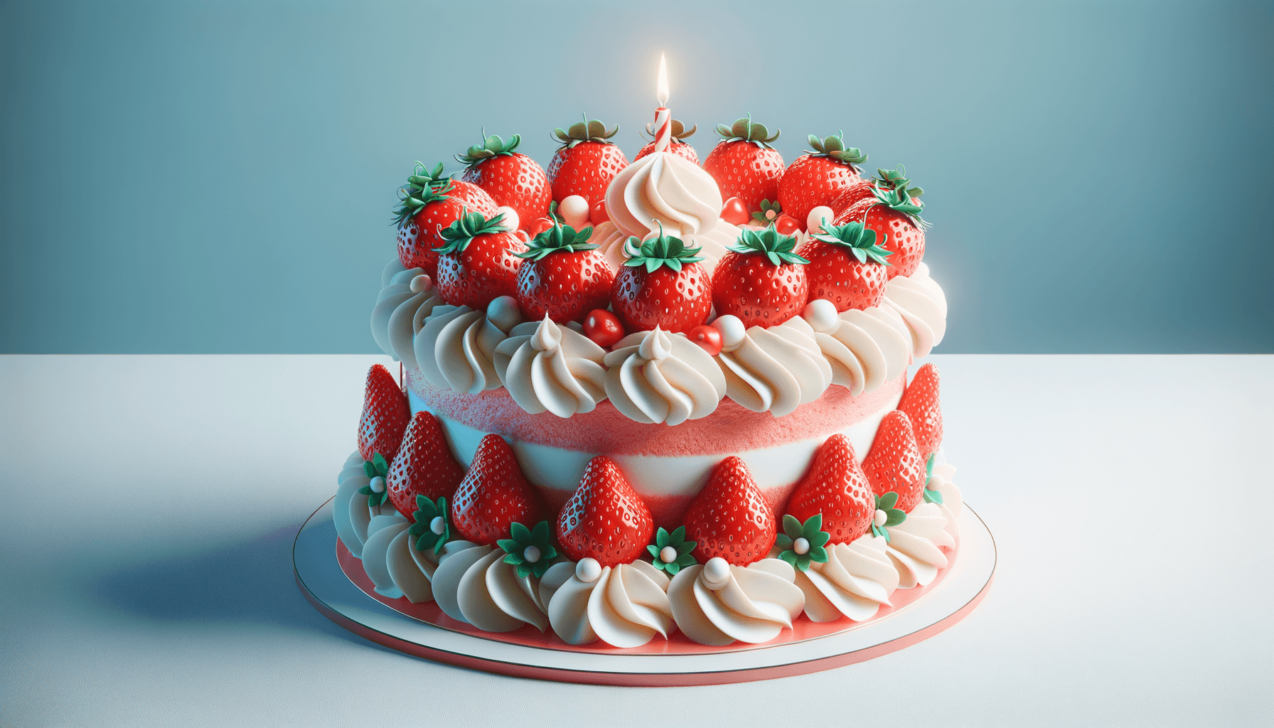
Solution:
M 445 497 L 448 501 L 456 486 L 465 477 L 465 469 L 451 456 L 451 448 L 442 437 L 442 427 L 433 414 L 420 411 L 412 416 L 403 446 L 385 476 L 385 490 L 400 514 L 415 523 L 415 496 L 431 501 Z

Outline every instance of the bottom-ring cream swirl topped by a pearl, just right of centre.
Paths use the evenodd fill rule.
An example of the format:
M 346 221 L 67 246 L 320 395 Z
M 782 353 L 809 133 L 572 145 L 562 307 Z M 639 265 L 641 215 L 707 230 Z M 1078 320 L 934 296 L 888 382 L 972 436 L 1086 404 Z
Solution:
M 668 599 L 678 629 L 701 645 L 759 644 L 791 629 L 805 608 L 795 579 L 796 570 L 777 558 L 747 567 L 712 558 L 678 571 Z

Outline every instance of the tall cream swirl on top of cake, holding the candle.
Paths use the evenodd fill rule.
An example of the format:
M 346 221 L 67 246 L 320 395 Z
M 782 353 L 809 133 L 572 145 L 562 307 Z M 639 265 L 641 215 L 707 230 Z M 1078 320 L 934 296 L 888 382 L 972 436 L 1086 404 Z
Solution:
M 624 235 L 637 237 L 646 237 L 659 224 L 680 236 L 711 229 L 721 217 L 721 190 L 711 175 L 666 152 L 637 159 L 606 187 L 610 219 Z

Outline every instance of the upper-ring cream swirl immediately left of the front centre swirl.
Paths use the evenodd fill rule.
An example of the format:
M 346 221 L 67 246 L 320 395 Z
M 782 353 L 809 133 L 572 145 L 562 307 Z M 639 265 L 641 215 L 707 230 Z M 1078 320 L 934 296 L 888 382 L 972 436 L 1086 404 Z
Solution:
M 496 347 L 499 381 L 522 409 L 571 417 L 606 398 L 606 351 L 548 316 L 513 326 Z

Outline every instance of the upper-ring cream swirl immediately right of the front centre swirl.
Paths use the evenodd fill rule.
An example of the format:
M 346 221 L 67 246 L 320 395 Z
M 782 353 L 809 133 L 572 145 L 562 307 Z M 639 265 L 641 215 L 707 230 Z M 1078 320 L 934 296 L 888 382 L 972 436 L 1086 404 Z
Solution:
M 832 367 L 818 348 L 814 329 L 800 316 L 768 329 L 744 330 L 731 315 L 712 325 L 721 331 L 716 361 L 725 375 L 726 395 L 753 412 L 790 414 L 832 384 Z

